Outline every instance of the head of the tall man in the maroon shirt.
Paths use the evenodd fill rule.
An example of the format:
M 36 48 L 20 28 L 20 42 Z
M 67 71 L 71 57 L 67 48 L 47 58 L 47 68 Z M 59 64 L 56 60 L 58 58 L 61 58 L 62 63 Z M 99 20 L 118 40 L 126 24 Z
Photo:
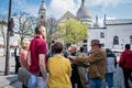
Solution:
M 45 29 L 45 26 L 37 25 L 35 28 L 35 34 L 46 38 L 46 29 Z

